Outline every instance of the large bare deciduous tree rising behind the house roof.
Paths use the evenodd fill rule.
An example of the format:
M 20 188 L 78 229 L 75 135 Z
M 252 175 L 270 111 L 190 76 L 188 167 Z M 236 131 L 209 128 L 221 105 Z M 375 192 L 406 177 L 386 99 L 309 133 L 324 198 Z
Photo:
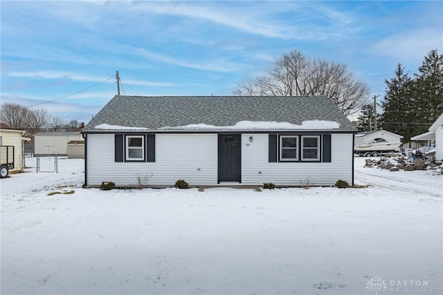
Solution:
M 327 95 L 345 115 L 368 103 L 370 88 L 356 79 L 345 64 L 309 59 L 293 50 L 275 60 L 260 77 L 239 81 L 236 95 Z

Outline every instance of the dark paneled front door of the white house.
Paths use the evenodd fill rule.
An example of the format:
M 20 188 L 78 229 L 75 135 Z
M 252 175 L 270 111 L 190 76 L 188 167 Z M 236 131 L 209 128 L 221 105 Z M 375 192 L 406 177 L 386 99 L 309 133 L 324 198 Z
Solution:
M 219 135 L 219 182 L 240 182 L 240 136 Z

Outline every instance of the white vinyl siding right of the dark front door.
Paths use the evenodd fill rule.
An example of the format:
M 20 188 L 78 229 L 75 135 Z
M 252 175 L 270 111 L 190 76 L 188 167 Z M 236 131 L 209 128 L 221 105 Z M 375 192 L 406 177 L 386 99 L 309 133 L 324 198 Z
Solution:
M 252 136 L 253 142 L 248 142 Z M 242 134 L 242 184 L 300 186 L 352 183 L 352 134 L 332 134 L 331 162 L 268 162 L 268 134 Z M 320 151 L 321 151 L 320 146 Z

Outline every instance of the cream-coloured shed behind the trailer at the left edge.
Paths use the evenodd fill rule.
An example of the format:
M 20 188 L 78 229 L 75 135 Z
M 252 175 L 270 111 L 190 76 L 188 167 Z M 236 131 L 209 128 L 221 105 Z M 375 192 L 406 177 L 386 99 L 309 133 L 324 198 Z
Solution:
M 4 125 L 2 124 L 1 126 L 3 127 Z M 24 169 L 23 144 L 25 140 L 29 140 L 23 137 L 25 132 L 0 128 L 0 146 L 14 146 L 14 169 L 10 170 L 10 172 L 19 172 Z

